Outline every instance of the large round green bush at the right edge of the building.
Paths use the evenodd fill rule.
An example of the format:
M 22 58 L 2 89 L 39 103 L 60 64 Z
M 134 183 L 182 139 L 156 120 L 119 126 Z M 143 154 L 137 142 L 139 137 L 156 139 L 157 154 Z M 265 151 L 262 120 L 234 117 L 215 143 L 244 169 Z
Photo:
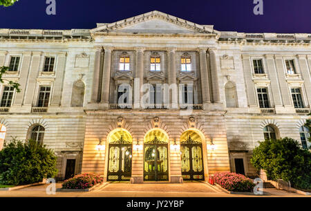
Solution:
M 311 189 L 311 152 L 292 138 L 265 140 L 254 149 L 251 163 L 267 177 L 290 181 L 294 187 Z

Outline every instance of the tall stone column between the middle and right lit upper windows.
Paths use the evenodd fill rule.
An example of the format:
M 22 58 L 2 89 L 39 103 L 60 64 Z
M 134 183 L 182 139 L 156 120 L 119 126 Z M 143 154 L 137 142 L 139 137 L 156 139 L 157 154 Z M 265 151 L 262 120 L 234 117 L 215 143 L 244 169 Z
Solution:
M 178 87 L 176 82 L 176 48 L 167 48 L 169 58 L 169 102 L 172 109 L 178 108 Z

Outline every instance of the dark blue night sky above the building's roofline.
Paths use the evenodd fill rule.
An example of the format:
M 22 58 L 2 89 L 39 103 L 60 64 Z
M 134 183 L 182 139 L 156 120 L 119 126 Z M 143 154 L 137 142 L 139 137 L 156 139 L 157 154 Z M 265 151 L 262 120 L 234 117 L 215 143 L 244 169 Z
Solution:
M 263 0 L 264 15 L 254 15 L 254 0 L 56 0 L 57 14 L 46 15 L 46 0 L 19 0 L 0 7 L 0 28 L 95 28 L 159 10 L 216 30 L 245 33 L 311 33 L 311 0 Z

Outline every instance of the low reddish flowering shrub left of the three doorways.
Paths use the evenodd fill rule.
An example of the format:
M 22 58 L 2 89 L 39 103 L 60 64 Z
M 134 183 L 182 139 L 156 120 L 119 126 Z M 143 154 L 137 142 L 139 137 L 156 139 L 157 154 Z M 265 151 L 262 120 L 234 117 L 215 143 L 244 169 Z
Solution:
M 74 176 L 73 178 L 68 178 L 68 180 L 64 181 L 64 183 L 62 184 L 62 188 L 87 189 L 102 182 L 103 179 L 96 174 L 79 174 Z

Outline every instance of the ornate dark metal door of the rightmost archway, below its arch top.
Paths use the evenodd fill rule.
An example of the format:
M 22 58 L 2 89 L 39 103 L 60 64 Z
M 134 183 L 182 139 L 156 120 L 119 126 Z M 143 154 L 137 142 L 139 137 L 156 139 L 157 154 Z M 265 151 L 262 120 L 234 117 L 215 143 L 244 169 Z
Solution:
M 202 157 L 202 143 L 194 141 L 189 136 L 180 143 L 182 162 L 182 178 L 185 181 L 204 180 L 204 168 Z

